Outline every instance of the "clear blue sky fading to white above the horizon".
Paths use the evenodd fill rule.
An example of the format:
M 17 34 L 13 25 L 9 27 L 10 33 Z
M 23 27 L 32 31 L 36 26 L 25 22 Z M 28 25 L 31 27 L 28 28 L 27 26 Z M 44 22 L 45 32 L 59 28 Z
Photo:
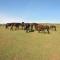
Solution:
M 60 23 L 60 0 L 0 0 L 0 23 Z

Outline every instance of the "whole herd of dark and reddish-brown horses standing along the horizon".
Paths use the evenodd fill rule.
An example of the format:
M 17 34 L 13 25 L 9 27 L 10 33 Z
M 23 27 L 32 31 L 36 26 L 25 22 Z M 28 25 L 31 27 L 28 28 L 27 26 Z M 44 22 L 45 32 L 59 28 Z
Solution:
M 55 25 L 48 25 L 48 24 L 38 24 L 38 23 L 6 23 L 5 27 L 8 29 L 10 27 L 10 30 L 19 30 L 19 27 L 21 26 L 22 30 L 25 30 L 26 32 L 34 32 L 35 30 L 40 32 L 47 32 L 50 33 L 50 29 L 54 29 L 56 31 Z M 15 28 L 14 28 L 15 27 Z

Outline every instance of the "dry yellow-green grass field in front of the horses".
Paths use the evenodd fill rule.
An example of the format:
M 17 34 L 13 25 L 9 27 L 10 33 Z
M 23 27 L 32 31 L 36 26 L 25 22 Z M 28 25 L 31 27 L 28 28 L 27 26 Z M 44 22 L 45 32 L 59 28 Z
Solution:
M 60 60 L 60 25 L 50 34 L 0 27 L 0 60 Z

